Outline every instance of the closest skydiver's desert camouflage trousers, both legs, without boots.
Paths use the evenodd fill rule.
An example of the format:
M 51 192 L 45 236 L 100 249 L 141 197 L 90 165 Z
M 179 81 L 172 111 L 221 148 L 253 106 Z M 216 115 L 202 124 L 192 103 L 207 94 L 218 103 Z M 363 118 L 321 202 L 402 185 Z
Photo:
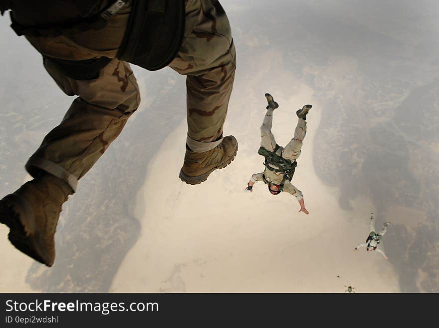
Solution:
M 27 37 L 42 54 L 82 60 L 113 58 L 95 80 L 65 76 L 51 61 L 45 68 L 68 95 L 77 95 L 62 122 L 50 131 L 26 163 L 35 176 L 41 170 L 66 181 L 75 191 L 78 180 L 122 132 L 140 103 L 139 87 L 127 62 L 115 58 L 131 5 L 100 30 L 58 37 Z M 21 22 L 24 23 L 24 22 Z M 189 147 L 196 152 L 215 148 L 222 140 L 235 71 L 235 50 L 227 16 L 218 1 L 187 0 L 182 47 L 169 65 L 187 75 Z

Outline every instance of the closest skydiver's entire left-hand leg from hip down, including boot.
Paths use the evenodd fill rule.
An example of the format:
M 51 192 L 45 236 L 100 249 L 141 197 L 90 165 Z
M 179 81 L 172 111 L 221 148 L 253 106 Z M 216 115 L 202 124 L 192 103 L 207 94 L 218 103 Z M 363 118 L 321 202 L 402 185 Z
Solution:
M 28 10 L 20 1 L 16 2 L 17 8 Z M 72 38 L 63 35 L 27 38 L 46 57 L 58 58 L 58 63 L 60 59 L 113 58 L 130 10 L 127 4 L 109 25 L 96 30 L 95 39 L 89 45 L 78 43 L 81 33 Z M 14 13 L 19 16 L 18 10 Z M 38 17 L 39 13 L 32 12 L 30 16 Z M 83 40 L 90 37 L 84 36 Z M 125 62 L 112 59 L 97 72 L 95 79 L 76 80 L 66 76 L 55 61 L 46 58 L 46 70 L 66 94 L 79 97 L 26 163 L 34 179 L 0 201 L 0 222 L 10 228 L 9 240 L 21 252 L 48 266 L 55 258 L 54 234 L 62 204 L 75 191 L 78 179 L 119 135 L 140 101 L 136 79 Z

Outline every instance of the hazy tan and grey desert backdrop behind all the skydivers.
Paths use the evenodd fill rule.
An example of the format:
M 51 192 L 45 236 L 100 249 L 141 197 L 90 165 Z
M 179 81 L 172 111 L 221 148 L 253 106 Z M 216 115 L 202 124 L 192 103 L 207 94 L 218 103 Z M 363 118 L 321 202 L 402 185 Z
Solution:
M 64 207 L 54 267 L 32 263 L 3 242 L 11 269 L 0 273 L 0 290 L 343 292 L 348 282 L 334 278 L 340 275 L 360 292 L 439 292 L 439 3 L 221 3 L 237 49 L 224 126 L 239 142 L 230 168 L 199 189 L 178 180 L 184 77 L 135 69 L 143 103 Z M 72 100 L 8 24 L 7 16 L 0 19 L 7 45 L 0 53 L 1 195 L 26 179 L 26 159 Z M 308 217 L 296 213 L 294 199 L 274 198 L 264 186 L 251 197 L 240 193 L 262 170 L 256 151 L 267 91 L 282 109 L 273 125 L 280 144 L 291 137 L 295 109 L 314 105 L 294 177 Z M 169 189 L 148 194 L 161 183 L 151 172 L 166 165 Z M 201 219 L 206 211 L 209 224 Z M 292 214 L 276 219 L 273 211 Z M 370 212 L 377 227 L 392 222 L 383 241 L 388 262 L 352 251 L 367 237 Z

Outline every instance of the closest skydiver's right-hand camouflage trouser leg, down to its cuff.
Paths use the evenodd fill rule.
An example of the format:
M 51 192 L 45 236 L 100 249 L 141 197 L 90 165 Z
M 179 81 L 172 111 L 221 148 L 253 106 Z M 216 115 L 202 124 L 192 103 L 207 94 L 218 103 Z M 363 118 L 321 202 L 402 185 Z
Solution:
M 208 151 L 222 140 L 235 64 L 230 25 L 219 1 L 188 0 L 183 44 L 169 66 L 187 75 L 187 143 L 193 151 Z

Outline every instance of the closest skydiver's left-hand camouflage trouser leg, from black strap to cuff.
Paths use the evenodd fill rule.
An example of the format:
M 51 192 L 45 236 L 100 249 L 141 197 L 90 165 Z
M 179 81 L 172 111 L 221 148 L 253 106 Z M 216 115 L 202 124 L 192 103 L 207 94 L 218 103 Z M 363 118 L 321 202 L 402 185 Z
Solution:
M 79 95 L 62 122 L 50 131 L 26 163 L 35 176 L 40 170 L 64 181 L 75 191 L 78 180 L 121 133 L 140 102 L 139 88 L 128 63 L 114 58 L 95 80 L 64 76 L 50 61 L 45 67 L 68 95 Z

